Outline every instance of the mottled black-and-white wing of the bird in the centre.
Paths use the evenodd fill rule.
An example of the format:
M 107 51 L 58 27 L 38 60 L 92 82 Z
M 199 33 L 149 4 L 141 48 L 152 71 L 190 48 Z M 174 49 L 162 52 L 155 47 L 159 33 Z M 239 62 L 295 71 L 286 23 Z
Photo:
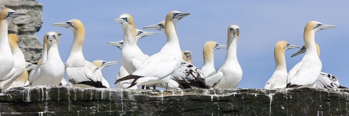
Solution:
M 210 88 L 205 84 L 201 70 L 186 61 L 182 61 L 179 69 L 172 76 L 172 80 L 176 81 L 181 89 Z

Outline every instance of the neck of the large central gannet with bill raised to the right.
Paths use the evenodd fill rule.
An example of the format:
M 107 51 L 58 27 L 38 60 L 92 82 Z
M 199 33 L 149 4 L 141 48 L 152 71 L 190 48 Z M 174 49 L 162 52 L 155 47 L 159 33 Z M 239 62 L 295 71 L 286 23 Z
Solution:
M 167 38 L 167 43 L 173 43 L 173 44 L 179 45 L 177 31 L 176 31 L 176 24 L 173 21 L 166 21 L 165 25 L 166 25 L 165 34 Z

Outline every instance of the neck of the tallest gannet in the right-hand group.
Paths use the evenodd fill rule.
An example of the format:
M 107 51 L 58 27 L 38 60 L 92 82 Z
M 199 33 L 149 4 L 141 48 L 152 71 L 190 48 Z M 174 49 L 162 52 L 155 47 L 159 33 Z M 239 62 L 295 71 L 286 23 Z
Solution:
M 315 32 L 313 30 L 304 29 L 303 39 L 305 46 L 307 46 L 305 54 L 314 54 L 318 56 L 315 45 Z

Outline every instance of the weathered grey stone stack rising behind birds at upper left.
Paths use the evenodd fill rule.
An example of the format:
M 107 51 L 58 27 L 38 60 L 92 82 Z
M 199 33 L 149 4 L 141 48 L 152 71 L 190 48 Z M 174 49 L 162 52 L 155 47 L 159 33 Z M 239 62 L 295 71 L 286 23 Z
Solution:
M 8 33 L 18 35 L 18 45 L 21 50 L 25 51 L 25 60 L 36 63 L 41 58 L 42 45 L 34 34 L 41 28 L 42 4 L 35 0 L 0 0 L 0 10 L 3 8 L 11 8 L 28 14 L 14 18 L 9 24 Z

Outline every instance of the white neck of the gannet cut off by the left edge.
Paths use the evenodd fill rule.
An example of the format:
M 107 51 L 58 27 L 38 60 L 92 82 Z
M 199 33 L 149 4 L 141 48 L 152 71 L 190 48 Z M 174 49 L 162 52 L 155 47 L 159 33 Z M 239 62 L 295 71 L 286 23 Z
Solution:
M 0 50 L 10 51 L 8 43 L 8 23 L 7 20 L 0 21 Z

